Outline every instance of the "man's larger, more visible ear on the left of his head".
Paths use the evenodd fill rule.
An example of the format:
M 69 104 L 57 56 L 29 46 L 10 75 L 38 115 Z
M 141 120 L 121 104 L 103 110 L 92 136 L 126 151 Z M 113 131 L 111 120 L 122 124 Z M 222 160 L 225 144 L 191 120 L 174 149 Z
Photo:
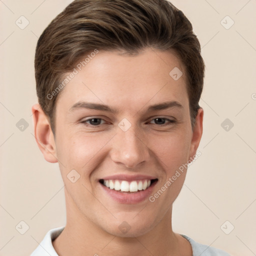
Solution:
M 48 162 L 57 162 L 54 136 L 49 120 L 39 104 L 32 106 L 34 136 L 44 159 Z

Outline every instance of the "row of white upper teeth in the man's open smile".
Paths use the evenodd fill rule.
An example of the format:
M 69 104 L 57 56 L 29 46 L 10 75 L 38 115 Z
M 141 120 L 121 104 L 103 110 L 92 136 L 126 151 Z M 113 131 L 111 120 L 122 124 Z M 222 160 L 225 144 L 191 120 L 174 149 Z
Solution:
M 136 192 L 137 190 L 145 190 L 150 186 L 150 179 L 133 180 L 130 183 L 127 180 L 103 180 L 103 184 L 114 190 L 121 190 L 122 192 Z

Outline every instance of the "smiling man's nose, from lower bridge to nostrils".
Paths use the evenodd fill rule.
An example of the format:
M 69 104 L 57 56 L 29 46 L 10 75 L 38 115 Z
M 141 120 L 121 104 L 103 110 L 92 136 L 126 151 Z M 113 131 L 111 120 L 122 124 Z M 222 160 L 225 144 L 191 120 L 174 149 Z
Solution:
M 135 125 L 132 125 L 135 126 Z M 141 132 L 132 126 L 123 131 L 119 129 L 112 140 L 111 159 L 128 168 L 135 168 L 150 158 L 149 148 Z

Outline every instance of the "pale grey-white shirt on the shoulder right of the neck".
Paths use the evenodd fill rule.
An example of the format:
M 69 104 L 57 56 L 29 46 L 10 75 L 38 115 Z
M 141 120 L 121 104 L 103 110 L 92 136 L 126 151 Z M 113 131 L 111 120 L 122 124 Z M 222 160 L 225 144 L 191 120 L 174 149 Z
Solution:
M 205 244 L 200 244 L 194 241 L 192 238 L 188 237 L 187 235 L 180 235 L 190 242 L 193 251 L 193 256 L 231 256 L 230 254 L 221 249 L 217 249 Z

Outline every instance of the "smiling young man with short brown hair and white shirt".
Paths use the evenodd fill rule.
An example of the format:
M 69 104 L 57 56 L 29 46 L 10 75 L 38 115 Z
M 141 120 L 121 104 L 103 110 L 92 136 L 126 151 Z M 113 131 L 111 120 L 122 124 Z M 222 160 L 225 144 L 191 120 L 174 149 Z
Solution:
M 75 0 L 40 36 L 34 134 L 58 162 L 66 225 L 31 256 L 228 253 L 173 232 L 172 204 L 197 157 L 204 63 L 165 0 Z

